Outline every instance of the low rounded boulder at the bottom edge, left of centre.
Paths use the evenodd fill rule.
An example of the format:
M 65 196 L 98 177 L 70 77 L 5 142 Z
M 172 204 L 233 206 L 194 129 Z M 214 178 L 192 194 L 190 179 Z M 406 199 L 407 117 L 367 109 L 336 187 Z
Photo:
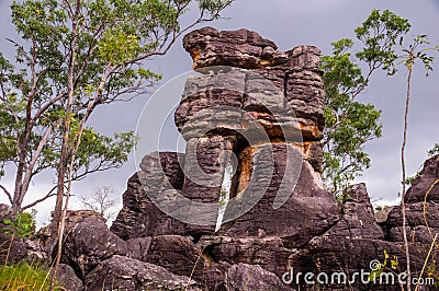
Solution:
M 102 261 L 85 280 L 85 291 L 100 290 L 202 290 L 188 277 L 123 256 Z

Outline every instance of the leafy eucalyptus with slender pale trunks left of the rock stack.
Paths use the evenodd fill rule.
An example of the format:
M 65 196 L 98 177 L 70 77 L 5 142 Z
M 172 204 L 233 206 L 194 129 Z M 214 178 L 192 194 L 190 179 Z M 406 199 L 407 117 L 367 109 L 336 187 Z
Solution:
M 67 181 L 120 166 L 136 144 L 133 132 L 106 137 L 88 125 L 101 105 L 145 94 L 161 75 L 147 61 L 167 54 L 195 24 L 219 18 L 230 0 L 25 0 L 11 5 L 13 61 L 0 55 L 0 185 L 16 211 L 57 196 L 59 220 Z M 188 13 L 196 10 L 198 13 Z M 188 25 L 180 23 L 188 15 Z M 189 22 L 188 18 L 184 23 Z M 70 174 L 69 168 L 71 170 Z M 56 185 L 29 206 L 34 177 L 55 170 Z

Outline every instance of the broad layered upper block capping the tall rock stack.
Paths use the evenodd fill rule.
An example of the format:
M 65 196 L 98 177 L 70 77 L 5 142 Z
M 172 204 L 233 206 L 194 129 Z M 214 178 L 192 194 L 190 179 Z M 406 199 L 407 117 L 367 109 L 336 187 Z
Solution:
M 254 49 L 256 40 L 260 42 L 256 45 L 258 49 Z M 188 131 L 182 129 L 185 119 L 193 118 L 202 108 L 226 105 L 260 116 L 264 121 L 277 119 L 277 123 L 282 123 L 284 118 L 288 120 L 295 115 L 304 141 L 318 141 L 322 138 L 325 92 L 318 48 L 297 46 L 290 51 L 279 53 L 272 42 L 256 37 L 254 32 L 217 32 L 212 27 L 190 33 L 183 44 L 193 58 L 195 69 L 202 72 L 204 68 L 216 71 L 214 75 L 188 80 L 182 103 L 176 112 L 176 124 L 183 136 Z M 262 47 L 272 51 L 273 57 L 255 53 L 262 51 Z M 236 61 L 236 58 L 239 60 Z M 230 68 L 215 69 L 212 66 L 230 66 L 240 70 L 228 71 Z M 274 118 L 273 112 L 277 109 L 282 109 L 283 115 Z M 238 123 L 236 118 L 233 119 Z M 212 119 L 211 116 L 211 120 L 216 118 Z

